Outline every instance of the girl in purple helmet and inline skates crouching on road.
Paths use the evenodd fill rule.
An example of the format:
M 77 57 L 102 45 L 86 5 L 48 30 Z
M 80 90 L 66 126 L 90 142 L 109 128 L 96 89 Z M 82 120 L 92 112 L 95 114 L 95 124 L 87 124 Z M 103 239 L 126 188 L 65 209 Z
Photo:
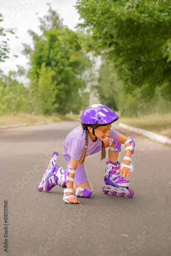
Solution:
M 116 189 L 129 187 L 130 182 L 125 178 L 133 171 L 131 156 L 134 153 L 135 143 L 131 137 L 126 138 L 111 128 L 112 123 L 118 118 L 106 105 L 95 104 L 85 109 L 81 115 L 81 125 L 71 131 L 64 141 L 63 159 L 68 165 L 67 169 L 63 170 L 56 165 L 57 160 L 55 160 L 54 166 L 50 164 L 48 167 L 49 175 L 46 175 L 43 188 L 49 191 L 57 184 L 65 188 L 63 201 L 66 203 L 80 203 L 76 196 L 90 197 L 93 187 L 88 182 L 84 160 L 99 151 L 101 151 L 101 160 L 104 159 L 106 147 L 109 147 L 109 159 L 106 162 L 104 175 L 104 182 L 108 186 L 105 187 L 115 186 Z M 119 166 L 118 155 L 122 143 L 125 144 L 125 157 Z M 53 156 L 56 155 L 58 154 L 54 153 Z M 106 190 L 103 192 L 108 193 Z

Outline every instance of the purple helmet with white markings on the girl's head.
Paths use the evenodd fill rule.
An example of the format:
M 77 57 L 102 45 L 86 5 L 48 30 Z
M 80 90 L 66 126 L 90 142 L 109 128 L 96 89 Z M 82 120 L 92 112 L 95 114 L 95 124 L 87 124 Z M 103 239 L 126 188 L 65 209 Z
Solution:
M 115 114 L 109 106 L 102 104 L 94 104 L 89 106 L 82 112 L 81 125 L 85 130 L 88 126 L 96 129 L 101 125 L 108 125 L 118 120 L 118 115 Z

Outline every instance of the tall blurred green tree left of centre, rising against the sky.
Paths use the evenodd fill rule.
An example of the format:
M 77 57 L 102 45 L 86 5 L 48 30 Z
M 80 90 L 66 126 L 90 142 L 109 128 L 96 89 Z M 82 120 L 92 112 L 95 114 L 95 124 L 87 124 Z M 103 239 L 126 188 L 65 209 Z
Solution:
M 60 25 L 58 14 L 52 11 L 51 7 L 49 15 L 44 17 L 45 20 L 40 19 L 42 31 L 40 36 L 29 31 L 34 42 L 34 49 L 26 46 L 25 52 L 31 63 L 28 73 L 31 79 L 30 89 L 36 99 L 40 79 L 39 70 L 42 63 L 45 63 L 46 68 L 53 71 L 52 82 L 55 82 L 56 98 L 53 101 L 53 109 L 63 115 L 70 111 L 79 112 L 81 103 L 78 90 L 85 87 L 82 74 L 91 67 L 91 61 L 82 49 L 79 32 L 73 32 Z M 54 20 L 57 22 L 53 22 Z

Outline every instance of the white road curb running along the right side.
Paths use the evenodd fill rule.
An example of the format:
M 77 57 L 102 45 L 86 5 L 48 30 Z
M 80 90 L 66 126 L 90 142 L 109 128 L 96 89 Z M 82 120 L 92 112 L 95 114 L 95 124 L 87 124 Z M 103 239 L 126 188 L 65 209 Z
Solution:
M 163 136 L 163 135 L 160 135 L 160 134 L 157 134 L 154 132 L 149 132 L 147 130 L 133 127 L 133 126 L 130 126 L 130 125 L 127 125 L 124 123 L 118 123 L 118 125 L 124 129 L 130 130 L 130 131 L 138 133 L 138 134 L 142 134 L 145 137 L 151 138 L 151 139 L 159 141 L 161 143 L 171 144 L 171 139 L 166 136 Z

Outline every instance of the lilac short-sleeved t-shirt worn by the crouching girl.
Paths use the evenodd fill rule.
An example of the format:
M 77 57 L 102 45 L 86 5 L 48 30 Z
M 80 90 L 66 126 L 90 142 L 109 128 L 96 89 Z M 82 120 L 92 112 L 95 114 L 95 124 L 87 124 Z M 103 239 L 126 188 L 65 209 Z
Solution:
M 109 138 L 117 139 L 119 133 L 111 128 Z M 71 157 L 75 160 L 79 160 L 82 151 L 86 146 L 86 131 L 82 130 L 82 126 L 77 126 L 66 137 L 63 145 L 63 159 L 67 164 L 70 163 Z M 97 139 L 93 142 L 89 137 L 89 145 L 87 147 L 87 156 L 93 155 L 101 151 L 101 140 Z

